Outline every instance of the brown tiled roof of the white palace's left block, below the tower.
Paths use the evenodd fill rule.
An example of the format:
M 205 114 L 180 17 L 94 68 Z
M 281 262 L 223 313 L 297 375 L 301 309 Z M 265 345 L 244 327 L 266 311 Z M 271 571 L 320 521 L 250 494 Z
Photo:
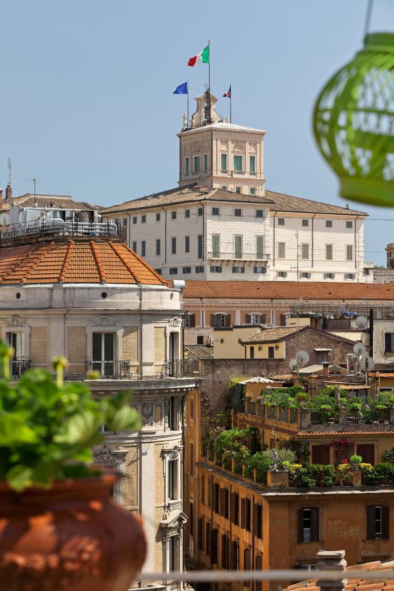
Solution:
M 212 189 L 204 184 L 190 184 L 187 187 L 175 187 L 161 193 L 153 193 L 141 199 L 132 199 L 119 205 L 105 207 L 100 210 L 103 215 L 109 213 L 132 212 L 139 209 L 150 209 L 152 207 L 161 207 L 164 205 L 175 205 L 178 203 L 198 203 L 200 201 L 219 201 L 219 202 L 243 202 L 257 204 L 273 204 L 273 201 L 265 197 L 253 195 L 243 195 L 226 191 L 225 189 Z

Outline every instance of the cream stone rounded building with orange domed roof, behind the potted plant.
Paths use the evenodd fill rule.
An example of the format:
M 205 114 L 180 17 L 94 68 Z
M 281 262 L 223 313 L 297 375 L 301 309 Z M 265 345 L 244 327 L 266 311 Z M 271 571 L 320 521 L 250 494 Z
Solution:
M 103 426 L 106 441 L 93 450 L 94 462 L 121 475 L 114 498 L 144 521 L 144 570 L 169 573 L 165 583 L 158 577 L 149 586 L 181 589 L 170 573 L 184 569 L 184 408 L 198 385 L 182 359 L 181 289 L 168 287 L 125 245 L 71 242 L 0 249 L 1 269 L 9 268 L 9 256 L 18 260 L 19 249 L 21 265 L 30 261 L 25 273 L 11 271 L 23 281 L 0 272 L 0 328 L 15 349 L 12 375 L 18 379 L 29 367 L 50 371 L 53 356 L 63 355 L 69 359 L 66 379 L 84 382 L 89 371 L 99 372 L 85 382 L 95 398 L 133 392 L 141 430 L 110 433 Z M 89 249 L 97 257 L 92 269 Z M 63 260 L 64 253 L 69 256 Z M 89 281 L 95 269 L 107 281 Z

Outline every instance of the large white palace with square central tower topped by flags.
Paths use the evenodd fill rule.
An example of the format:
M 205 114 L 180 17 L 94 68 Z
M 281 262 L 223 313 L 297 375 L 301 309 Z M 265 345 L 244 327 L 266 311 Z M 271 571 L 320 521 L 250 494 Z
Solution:
M 210 109 L 207 106 L 210 98 Z M 265 190 L 265 131 L 223 122 L 217 99 L 184 116 L 179 186 L 101 210 L 166 279 L 373 281 L 367 214 Z M 207 113 L 210 112 L 210 117 Z

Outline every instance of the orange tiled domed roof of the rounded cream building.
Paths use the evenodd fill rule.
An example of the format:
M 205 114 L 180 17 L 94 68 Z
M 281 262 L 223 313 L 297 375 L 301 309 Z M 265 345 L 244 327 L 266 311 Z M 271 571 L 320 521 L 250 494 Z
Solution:
M 122 242 L 66 240 L 0 249 L 0 285 L 59 282 L 167 286 Z

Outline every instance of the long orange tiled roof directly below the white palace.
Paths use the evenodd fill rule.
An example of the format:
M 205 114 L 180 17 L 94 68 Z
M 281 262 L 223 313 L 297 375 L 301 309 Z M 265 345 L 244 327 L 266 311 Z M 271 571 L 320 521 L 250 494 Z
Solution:
M 394 300 L 393 283 L 299 283 L 299 297 L 310 300 Z M 185 298 L 295 300 L 295 281 L 186 281 Z M 394 310 L 394 301 L 393 301 Z

